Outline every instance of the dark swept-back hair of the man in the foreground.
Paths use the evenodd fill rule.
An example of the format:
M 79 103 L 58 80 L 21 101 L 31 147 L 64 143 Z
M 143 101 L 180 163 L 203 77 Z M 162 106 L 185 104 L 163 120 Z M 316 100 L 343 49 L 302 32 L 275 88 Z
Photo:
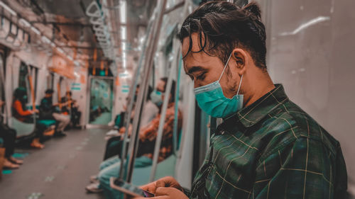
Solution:
M 266 33 L 261 22 L 258 4 L 252 2 L 244 7 L 226 1 L 209 1 L 193 11 L 182 24 L 180 41 L 189 38 L 192 51 L 192 33 L 198 34 L 201 50 L 217 56 L 226 63 L 235 47 L 244 48 L 254 64 L 266 69 Z

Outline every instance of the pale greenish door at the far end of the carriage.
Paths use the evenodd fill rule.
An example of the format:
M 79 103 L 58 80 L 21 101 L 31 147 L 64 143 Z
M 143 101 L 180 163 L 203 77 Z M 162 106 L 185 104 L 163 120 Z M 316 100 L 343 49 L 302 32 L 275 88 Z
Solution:
M 105 126 L 113 118 L 114 79 L 111 77 L 89 77 L 89 115 L 87 123 Z

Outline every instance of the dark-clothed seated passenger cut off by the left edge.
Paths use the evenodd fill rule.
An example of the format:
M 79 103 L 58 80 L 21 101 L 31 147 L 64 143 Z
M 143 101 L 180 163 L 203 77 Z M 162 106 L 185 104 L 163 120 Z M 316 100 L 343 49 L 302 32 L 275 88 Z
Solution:
M 0 100 L 0 108 L 4 106 L 5 102 Z M 4 124 L 4 118 L 0 115 L 0 137 L 4 140 L 5 161 L 4 167 L 6 169 L 18 169 L 19 164 L 23 161 L 12 157 L 15 150 L 16 130 L 11 129 Z

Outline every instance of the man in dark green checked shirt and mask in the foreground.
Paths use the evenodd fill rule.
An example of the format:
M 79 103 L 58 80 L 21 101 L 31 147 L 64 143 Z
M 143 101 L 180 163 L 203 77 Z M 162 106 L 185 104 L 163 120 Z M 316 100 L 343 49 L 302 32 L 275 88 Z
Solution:
M 339 142 L 271 81 L 256 4 L 203 4 L 180 39 L 199 106 L 224 122 L 190 192 L 172 177 L 143 189 L 159 198 L 344 198 Z

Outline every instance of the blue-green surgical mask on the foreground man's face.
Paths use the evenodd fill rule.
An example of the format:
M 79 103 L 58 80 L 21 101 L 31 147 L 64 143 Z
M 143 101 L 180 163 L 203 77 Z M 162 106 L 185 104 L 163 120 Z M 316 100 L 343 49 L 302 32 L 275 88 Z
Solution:
M 232 98 L 226 98 L 224 96 L 221 84 L 219 84 L 219 81 L 224 74 L 224 70 L 228 65 L 229 59 L 231 59 L 231 55 L 229 55 L 222 74 L 219 76 L 217 81 L 195 89 L 195 96 L 198 105 L 202 110 L 204 110 L 204 112 L 214 118 L 226 118 L 243 108 L 243 95 L 239 95 L 239 90 L 241 89 L 241 81 L 239 82 L 236 95 Z M 243 75 L 241 75 L 241 80 L 242 79 Z

